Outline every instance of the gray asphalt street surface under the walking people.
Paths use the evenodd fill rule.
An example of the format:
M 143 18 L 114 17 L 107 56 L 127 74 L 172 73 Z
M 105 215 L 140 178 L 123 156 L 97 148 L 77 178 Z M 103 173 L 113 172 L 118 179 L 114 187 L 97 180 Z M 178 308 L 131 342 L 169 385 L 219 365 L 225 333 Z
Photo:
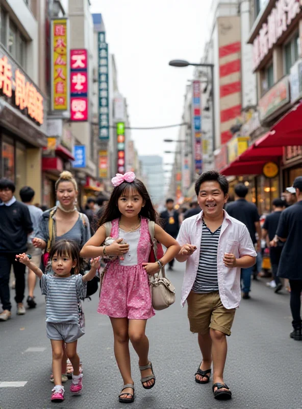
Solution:
M 150 359 L 157 376 L 156 386 L 145 391 L 135 353 L 132 353 L 136 400 L 132 408 L 290 408 L 302 407 L 302 342 L 289 338 L 291 317 L 289 294 L 277 295 L 263 282 L 253 282 L 251 300 L 241 301 L 229 340 L 225 382 L 233 392 L 227 402 L 215 401 L 211 383 L 194 382 L 200 363 L 197 336 L 188 329 L 186 308 L 180 307 L 180 289 L 185 264 L 176 264 L 169 274 L 177 288 L 177 302 L 157 312 L 147 326 Z M 13 294 L 14 291 L 12 291 Z M 83 361 L 84 390 L 71 396 L 65 384 L 65 401 L 51 403 L 51 344 L 46 338 L 44 298 L 36 287 L 38 306 L 24 316 L 0 323 L 0 408 L 119 408 L 122 387 L 113 354 L 112 329 L 108 317 L 96 313 L 97 294 L 85 301 L 86 334 L 79 340 Z M 13 298 L 13 297 L 11 297 Z M 30 350 L 32 348 L 32 351 Z M 6 387 L 3 382 L 23 382 Z

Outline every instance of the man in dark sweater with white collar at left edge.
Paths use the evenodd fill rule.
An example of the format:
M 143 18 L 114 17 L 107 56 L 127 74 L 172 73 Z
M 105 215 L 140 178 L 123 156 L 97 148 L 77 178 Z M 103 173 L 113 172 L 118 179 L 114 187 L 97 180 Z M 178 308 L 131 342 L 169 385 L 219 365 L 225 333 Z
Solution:
M 26 313 L 23 305 L 26 268 L 15 261 L 15 254 L 26 251 L 28 235 L 33 232 L 33 223 L 28 207 L 16 200 L 15 190 L 11 180 L 0 179 L 0 300 L 3 307 L 0 321 L 11 318 L 9 279 L 12 265 L 17 314 Z

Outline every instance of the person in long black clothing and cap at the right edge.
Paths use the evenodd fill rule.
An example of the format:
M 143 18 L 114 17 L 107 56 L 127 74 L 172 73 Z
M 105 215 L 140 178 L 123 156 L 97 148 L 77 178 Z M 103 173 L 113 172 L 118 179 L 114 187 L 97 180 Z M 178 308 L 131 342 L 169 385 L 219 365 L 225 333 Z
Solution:
M 271 244 L 278 246 L 279 241 L 284 242 L 281 253 L 278 277 L 289 279 L 290 309 L 292 314 L 293 331 L 290 337 L 302 340 L 301 334 L 301 292 L 302 292 L 302 176 L 295 178 L 293 188 L 296 192 L 297 202 L 285 209 L 279 220 L 276 236 Z

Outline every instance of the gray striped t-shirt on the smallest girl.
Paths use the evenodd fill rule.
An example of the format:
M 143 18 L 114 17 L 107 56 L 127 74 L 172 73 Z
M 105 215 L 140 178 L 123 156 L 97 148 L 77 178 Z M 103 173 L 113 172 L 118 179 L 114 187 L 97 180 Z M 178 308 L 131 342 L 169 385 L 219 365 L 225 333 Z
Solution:
M 81 274 L 70 277 L 43 274 L 41 290 L 46 296 L 47 323 L 79 324 L 78 302 L 86 297 L 87 290 L 87 282 L 83 281 Z

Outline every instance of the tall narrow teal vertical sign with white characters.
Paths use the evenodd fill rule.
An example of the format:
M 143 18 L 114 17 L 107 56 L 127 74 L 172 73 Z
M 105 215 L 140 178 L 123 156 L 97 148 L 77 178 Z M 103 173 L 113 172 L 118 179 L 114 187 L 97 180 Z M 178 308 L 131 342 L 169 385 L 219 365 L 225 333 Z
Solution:
M 109 139 L 108 44 L 105 32 L 98 33 L 98 137 Z

